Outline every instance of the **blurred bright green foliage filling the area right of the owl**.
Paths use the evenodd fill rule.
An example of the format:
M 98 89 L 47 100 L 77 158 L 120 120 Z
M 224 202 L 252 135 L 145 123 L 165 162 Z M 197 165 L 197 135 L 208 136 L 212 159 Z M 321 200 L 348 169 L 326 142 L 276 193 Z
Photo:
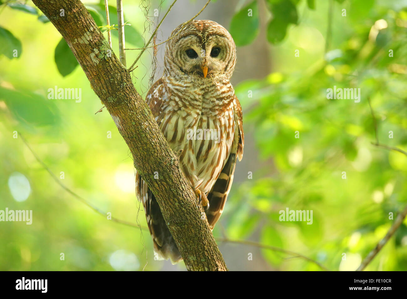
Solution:
M 269 2 L 273 9 L 290 1 Z M 380 142 L 405 150 L 407 10 L 398 1 L 331 4 L 330 18 L 328 3 L 316 1 L 314 12 L 300 2 L 297 10 L 305 10 L 301 22 L 287 36 L 282 25 L 270 29 L 280 20 L 272 19 L 269 41 L 284 38 L 272 51 L 274 72 L 235 88 L 245 123 L 255 128 L 257 148 L 269 168 L 260 168 L 243 183 L 234 193 L 240 204 L 229 205 L 226 214 L 239 215 L 239 221 L 228 224 L 234 238 L 260 229 L 263 244 L 307 253 L 333 270 L 355 270 L 392 225 L 389 213 L 395 218 L 407 203 L 407 157 L 371 144 L 376 137 L 368 104 L 370 99 Z M 289 7 L 293 3 L 281 10 Z M 284 17 L 284 22 L 296 18 Z M 328 22 L 330 48 L 323 37 Z M 278 38 L 270 38 L 271 33 Z M 327 89 L 334 85 L 360 88 L 360 103 L 327 99 Z M 313 224 L 280 222 L 278 212 L 286 207 L 313 210 Z M 252 222 L 257 225 L 247 230 Z M 407 269 L 406 224 L 368 270 Z M 264 255 L 284 270 L 317 269 L 298 258 L 284 261 L 284 255 L 268 250 Z

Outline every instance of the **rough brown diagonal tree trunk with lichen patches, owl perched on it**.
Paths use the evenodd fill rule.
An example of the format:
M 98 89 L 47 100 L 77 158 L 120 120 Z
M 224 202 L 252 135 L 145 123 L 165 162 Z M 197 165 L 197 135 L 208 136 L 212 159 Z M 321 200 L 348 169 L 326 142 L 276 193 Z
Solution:
M 226 271 L 204 212 L 131 76 L 79 0 L 33 0 L 70 46 L 129 146 L 190 271 Z M 64 15 L 60 10 L 64 9 Z M 154 179 L 158 171 L 159 179 Z

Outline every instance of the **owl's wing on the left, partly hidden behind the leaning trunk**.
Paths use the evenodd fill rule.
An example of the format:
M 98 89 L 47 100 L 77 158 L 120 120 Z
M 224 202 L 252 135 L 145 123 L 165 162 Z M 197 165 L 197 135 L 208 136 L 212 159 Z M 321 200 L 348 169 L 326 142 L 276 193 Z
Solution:
M 162 79 L 158 80 L 151 86 L 147 93 L 147 104 L 155 120 L 160 124 L 162 120 L 162 95 L 164 94 Z M 136 194 L 138 199 L 142 201 L 144 212 L 147 218 L 147 225 L 153 238 L 154 251 L 158 253 L 159 260 L 168 258 L 173 264 L 181 260 L 181 254 L 175 244 L 173 236 L 168 227 L 158 205 L 153 192 L 147 186 L 147 183 L 142 179 L 139 172 L 136 171 Z

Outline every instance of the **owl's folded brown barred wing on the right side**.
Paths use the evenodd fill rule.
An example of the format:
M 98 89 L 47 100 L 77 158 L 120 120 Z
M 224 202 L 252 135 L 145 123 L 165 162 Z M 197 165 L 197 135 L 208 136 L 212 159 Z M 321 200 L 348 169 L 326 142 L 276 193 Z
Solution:
M 242 107 L 240 106 L 238 98 L 234 98 L 234 140 L 230 149 L 228 160 L 223 166 L 221 173 L 215 181 L 212 189 L 208 193 L 209 210 L 206 212 L 208 223 L 211 229 L 214 228 L 216 222 L 223 212 L 226 199 L 228 197 L 230 188 L 232 186 L 234 168 L 236 166 L 236 155 L 241 161 L 243 157 L 243 146 L 245 144 L 245 137 L 243 133 L 243 116 Z

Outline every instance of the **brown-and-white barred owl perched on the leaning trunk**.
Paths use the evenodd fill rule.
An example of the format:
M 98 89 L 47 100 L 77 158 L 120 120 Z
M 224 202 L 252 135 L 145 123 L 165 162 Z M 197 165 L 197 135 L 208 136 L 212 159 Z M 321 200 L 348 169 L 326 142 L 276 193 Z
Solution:
M 232 185 L 236 156 L 243 156 L 242 110 L 230 77 L 236 48 L 230 33 L 216 22 L 194 20 L 171 33 L 164 54 L 164 73 L 147 94 L 147 103 L 180 165 L 204 206 L 210 228 L 223 212 Z M 160 207 L 136 172 L 153 238 L 155 256 L 181 260 Z

